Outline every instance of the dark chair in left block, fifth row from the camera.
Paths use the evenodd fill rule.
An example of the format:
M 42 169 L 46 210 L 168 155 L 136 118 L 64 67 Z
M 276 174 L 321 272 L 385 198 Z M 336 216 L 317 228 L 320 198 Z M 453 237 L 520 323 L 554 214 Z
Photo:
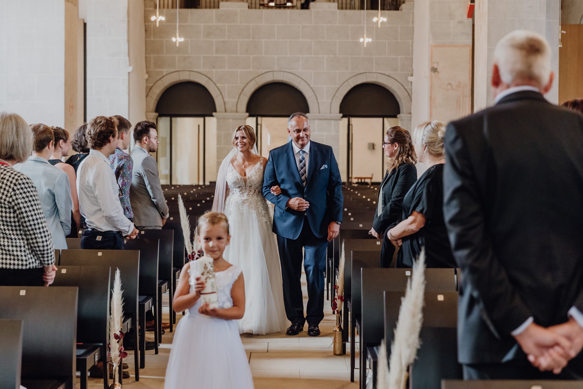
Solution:
M 139 272 L 139 305 L 138 316 L 140 318 L 140 369 L 146 366 L 146 312 L 154 310 L 154 353 L 158 353 L 160 333 L 158 311 L 158 253 L 160 249 L 159 239 L 136 238 L 125 242 L 126 250 L 138 250 L 140 252 Z

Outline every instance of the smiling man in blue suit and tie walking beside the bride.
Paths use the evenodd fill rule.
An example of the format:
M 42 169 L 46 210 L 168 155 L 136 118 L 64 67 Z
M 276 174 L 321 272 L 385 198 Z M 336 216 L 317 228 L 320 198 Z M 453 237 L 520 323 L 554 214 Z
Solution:
M 269 153 L 263 194 L 275 204 L 273 232 L 278 235 L 283 300 L 291 322 L 286 334 L 297 335 L 307 321 L 308 335 L 318 336 L 324 318 L 326 248 L 338 236 L 342 223 L 342 180 L 332 147 L 310 141 L 310 121 L 305 114 L 291 114 L 287 132 L 291 141 Z M 279 186 L 282 193 L 273 194 L 273 186 Z M 302 260 L 308 282 L 305 317 Z

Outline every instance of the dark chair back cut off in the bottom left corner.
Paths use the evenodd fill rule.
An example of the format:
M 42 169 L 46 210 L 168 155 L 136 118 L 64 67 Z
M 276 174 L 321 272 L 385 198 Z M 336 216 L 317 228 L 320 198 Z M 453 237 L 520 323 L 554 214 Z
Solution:
M 22 369 L 22 320 L 0 319 L 0 388 L 20 389 Z

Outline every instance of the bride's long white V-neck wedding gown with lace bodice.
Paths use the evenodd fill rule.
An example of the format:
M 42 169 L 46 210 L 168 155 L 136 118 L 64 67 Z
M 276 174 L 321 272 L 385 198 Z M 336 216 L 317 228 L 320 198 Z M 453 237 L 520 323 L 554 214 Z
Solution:
M 229 218 L 231 242 L 223 256 L 243 270 L 245 315 L 238 322 L 241 334 L 280 332 L 287 324 L 278 244 L 271 230 L 272 216 L 261 193 L 262 166 L 263 158 L 247 177 L 242 177 L 230 163 L 226 171 L 229 197 L 224 213 Z

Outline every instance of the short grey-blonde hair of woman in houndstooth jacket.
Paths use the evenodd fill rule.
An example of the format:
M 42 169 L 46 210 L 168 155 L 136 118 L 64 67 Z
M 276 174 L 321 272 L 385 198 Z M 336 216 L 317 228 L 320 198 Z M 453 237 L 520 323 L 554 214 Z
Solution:
M 23 162 L 33 150 L 33 132 L 16 113 L 0 112 L 0 158 Z

